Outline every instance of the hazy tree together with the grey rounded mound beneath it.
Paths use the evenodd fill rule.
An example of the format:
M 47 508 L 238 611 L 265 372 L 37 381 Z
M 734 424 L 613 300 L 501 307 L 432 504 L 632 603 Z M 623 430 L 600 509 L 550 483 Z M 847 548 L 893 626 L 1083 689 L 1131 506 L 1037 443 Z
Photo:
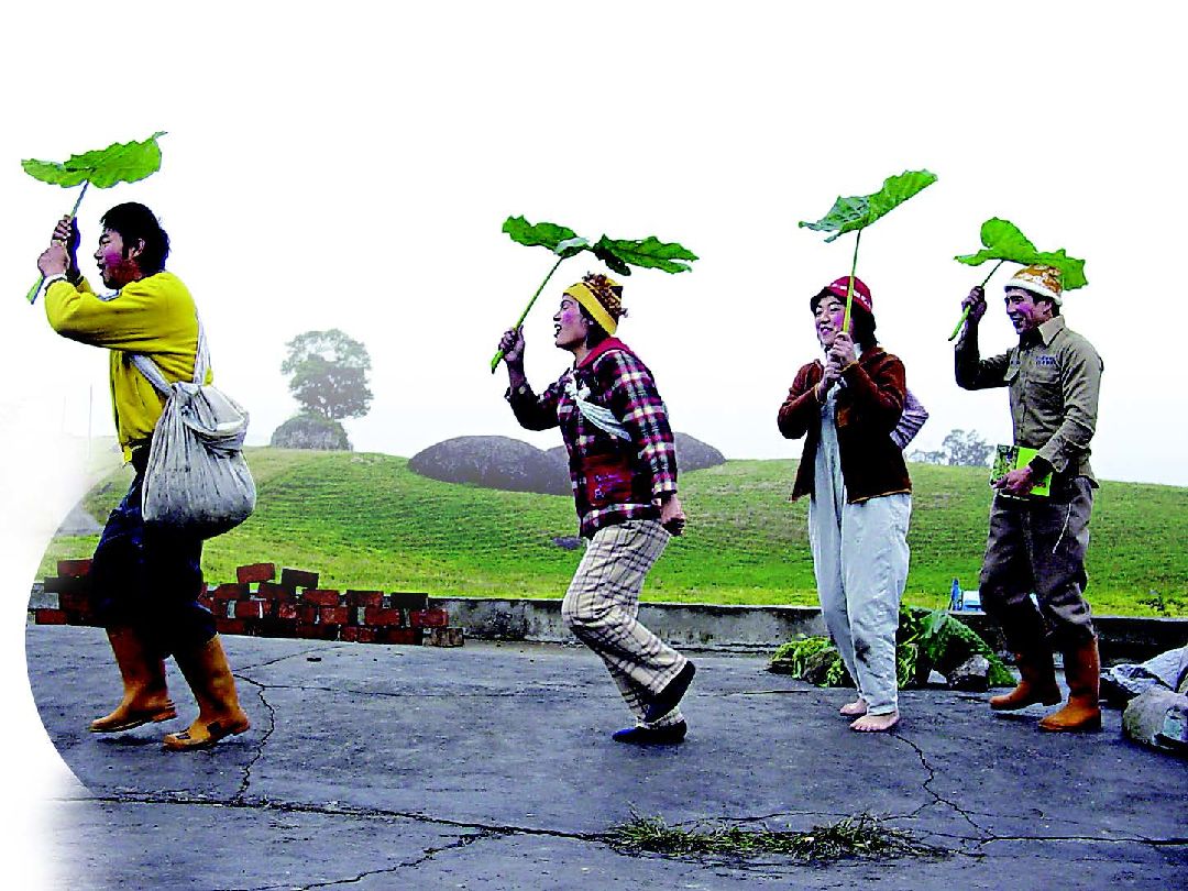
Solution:
M 291 375 L 289 392 L 301 403 L 302 411 L 273 431 L 272 444 L 350 450 L 347 431 L 339 422 L 362 417 L 371 409 L 367 347 L 337 328 L 298 334 L 286 346 L 289 355 L 280 371 Z

